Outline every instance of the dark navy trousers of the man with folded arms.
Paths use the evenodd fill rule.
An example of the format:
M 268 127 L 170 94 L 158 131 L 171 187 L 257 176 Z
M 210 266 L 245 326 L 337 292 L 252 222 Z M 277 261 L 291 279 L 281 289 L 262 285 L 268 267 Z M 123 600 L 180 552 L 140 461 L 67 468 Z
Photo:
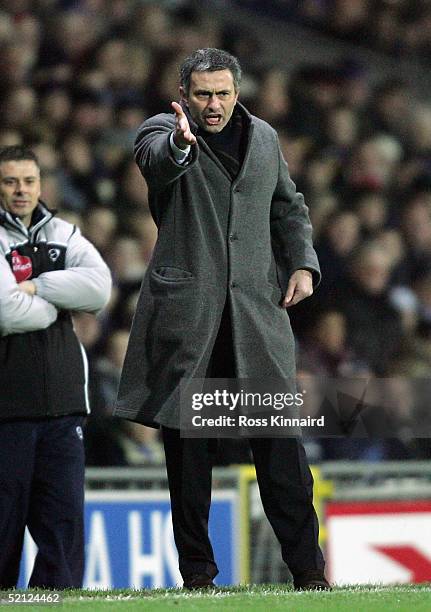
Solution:
M 16 586 L 26 526 L 38 546 L 29 587 L 82 586 L 82 421 L 0 424 L 0 588 Z

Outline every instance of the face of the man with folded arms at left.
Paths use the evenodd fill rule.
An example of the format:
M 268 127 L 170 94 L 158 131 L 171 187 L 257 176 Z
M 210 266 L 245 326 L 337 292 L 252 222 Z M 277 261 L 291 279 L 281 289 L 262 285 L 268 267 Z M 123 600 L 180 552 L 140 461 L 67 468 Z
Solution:
M 31 159 L 0 163 L 0 203 L 29 227 L 40 197 L 40 171 Z

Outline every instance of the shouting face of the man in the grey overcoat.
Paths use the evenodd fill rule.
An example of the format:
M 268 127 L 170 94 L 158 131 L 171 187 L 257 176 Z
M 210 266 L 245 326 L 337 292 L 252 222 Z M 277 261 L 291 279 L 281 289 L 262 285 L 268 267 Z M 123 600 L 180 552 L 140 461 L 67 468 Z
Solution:
M 192 72 L 188 95 L 183 87 L 180 87 L 180 94 L 193 120 L 213 134 L 226 126 L 238 99 L 230 70 Z

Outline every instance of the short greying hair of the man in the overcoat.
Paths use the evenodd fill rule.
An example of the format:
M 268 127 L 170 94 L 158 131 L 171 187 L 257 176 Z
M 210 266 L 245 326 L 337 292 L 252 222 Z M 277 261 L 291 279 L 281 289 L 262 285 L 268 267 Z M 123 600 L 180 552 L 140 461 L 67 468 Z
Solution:
M 234 55 L 223 49 L 197 49 L 187 57 L 180 67 L 180 85 L 186 94 L 190 89 L 192 72 L 215 72 L 216 70 L 230 70 L 233 76 L 235 91 L 241 84 L 241 66 Z

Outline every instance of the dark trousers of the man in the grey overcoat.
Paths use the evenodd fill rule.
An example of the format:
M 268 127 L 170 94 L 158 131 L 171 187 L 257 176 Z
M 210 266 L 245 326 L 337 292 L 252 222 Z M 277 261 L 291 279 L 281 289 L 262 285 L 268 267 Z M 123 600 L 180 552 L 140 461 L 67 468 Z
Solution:
M 233 378 L 235 359 L 229 309 L 225 308 L 207 371 L 207 378 Z M 181 575 L 217 575 L 208 516 L 211 470 L 217 440 L 181 438 L 180 431 L 162 427 L 172 522 Z M 301 440 L 250 438 L 265 514 L 281 545 L 292 575 L 323 570 L 319 526 L 312 504 L 313 478 Z

